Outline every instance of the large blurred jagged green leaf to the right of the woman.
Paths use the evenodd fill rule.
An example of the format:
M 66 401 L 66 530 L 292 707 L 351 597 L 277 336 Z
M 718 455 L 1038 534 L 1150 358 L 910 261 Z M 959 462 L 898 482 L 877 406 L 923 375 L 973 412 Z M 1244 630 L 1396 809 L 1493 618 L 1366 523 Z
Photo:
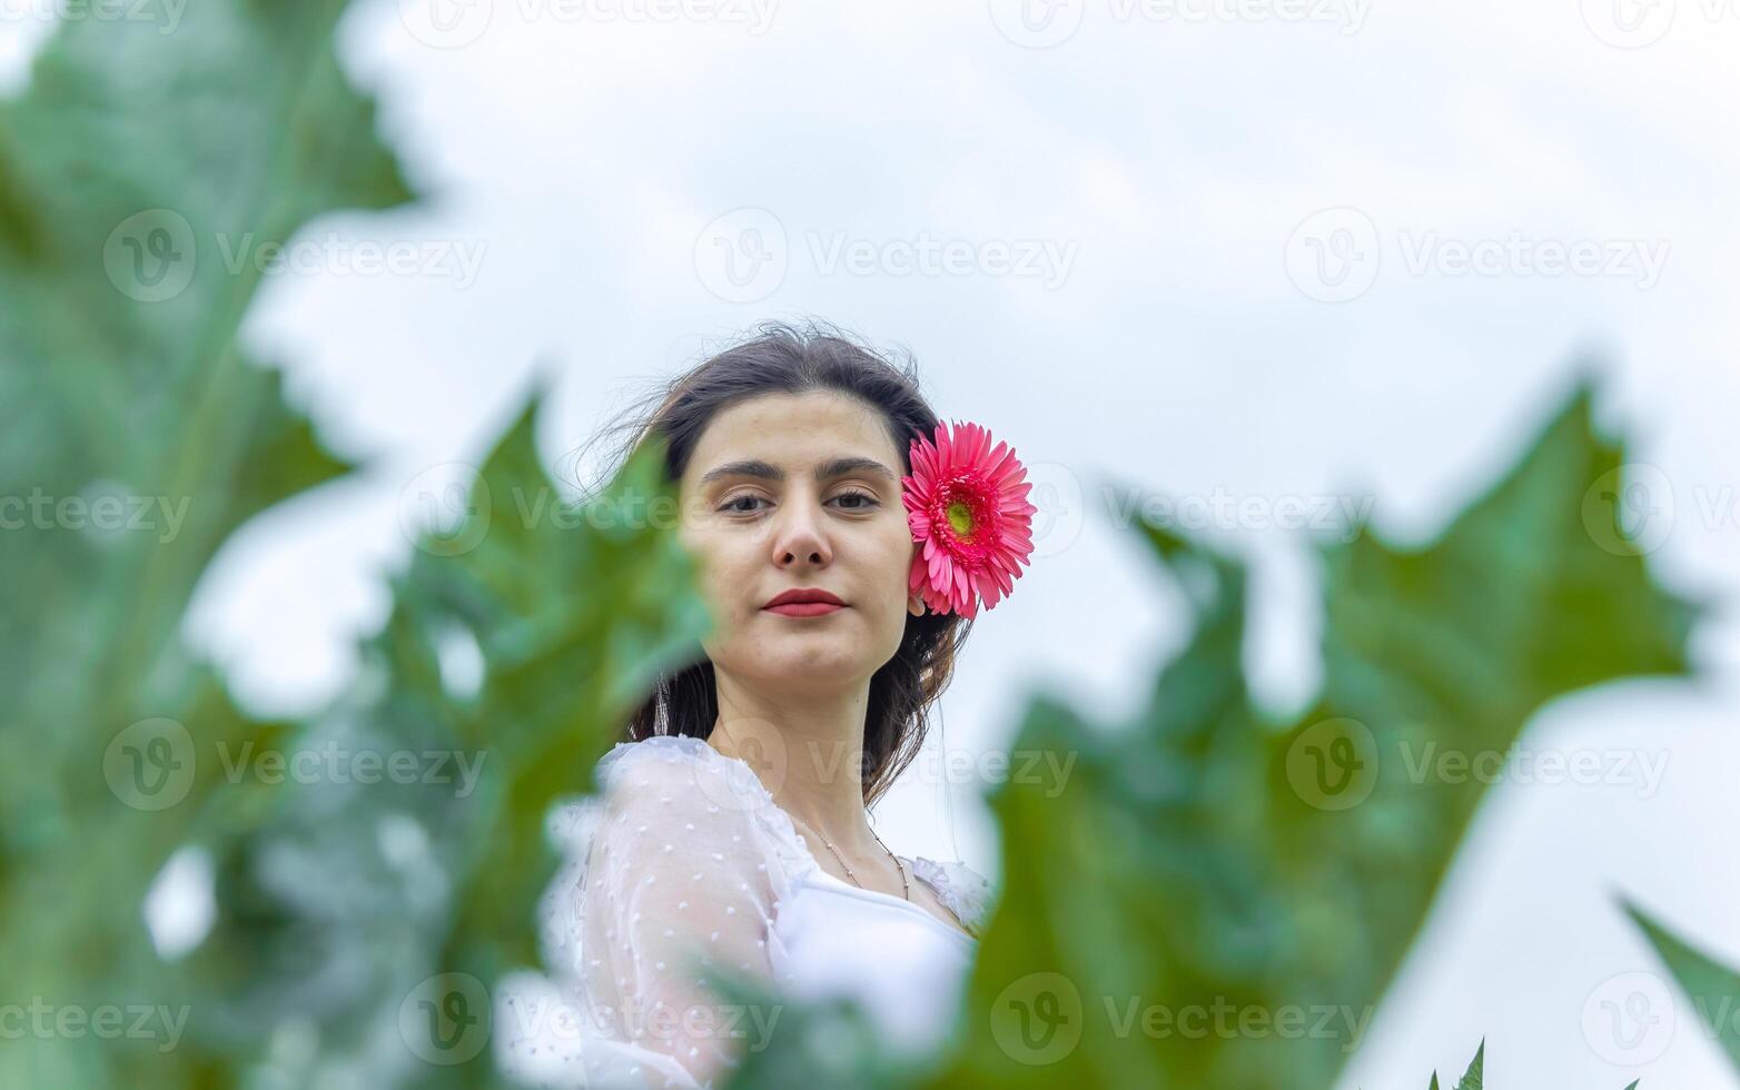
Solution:
M 1578 391 L 1436 541 L 1321 546 L 1324 685 L 1293 723 L 1246 687 L 1244 565 L 1143 525 L 1194 636 L 1134 721 L 1027 711 L 1016 753 L 1074 765 L 992 796 L 1004 892 L 936 1085 L 1331 1085 L 1484 794 L 1434 754 L 1686 671 L 1693 607 L 1601 522 L 1622 462 Z

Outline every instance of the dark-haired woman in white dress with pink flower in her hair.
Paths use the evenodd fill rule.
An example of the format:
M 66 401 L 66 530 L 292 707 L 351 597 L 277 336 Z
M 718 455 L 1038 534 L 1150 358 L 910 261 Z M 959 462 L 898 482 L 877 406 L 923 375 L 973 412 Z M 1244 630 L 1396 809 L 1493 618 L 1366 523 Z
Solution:
M 896 855 L 868 807 L 919 753 L 969 617 L 1027 562 L 1023 469 L 976 426 L 950 440 L 910 367 L 786 325 L 659 391 L 630 449 L 651 435 L 715 628 L 585 803 L 569 1059 L 595 1087 L 724 1083 L 778 1012 L 729 1007 L 708 968 L 851 994 L 934 1045 L 988 885 Z

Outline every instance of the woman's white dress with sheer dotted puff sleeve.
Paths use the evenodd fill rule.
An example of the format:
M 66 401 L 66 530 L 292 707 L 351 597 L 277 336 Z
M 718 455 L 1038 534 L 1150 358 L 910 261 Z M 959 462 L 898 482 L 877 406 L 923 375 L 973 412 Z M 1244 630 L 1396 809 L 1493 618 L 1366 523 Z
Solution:
M 607 753 L 599 784 L 599 796 L 560 815 L 571 854 L 546 902 L 546 935 L 552 963 L 571 974 L 576 1017 L 553 1045 L 546 1034 L 543 1081 L 722 1085 L 773 1026 L 703 987 L 708 963 L 785 994 L 856 998 L 886 1040 L 914 1052 L 948 1034 L 976 937 L 823 871 L 746 763 L 703 739 L 652 737 Z M 962 862 L 905 862 L 981 932 L 983 876 Z M 508 1043 L 527 1047 L 538 1048 Z

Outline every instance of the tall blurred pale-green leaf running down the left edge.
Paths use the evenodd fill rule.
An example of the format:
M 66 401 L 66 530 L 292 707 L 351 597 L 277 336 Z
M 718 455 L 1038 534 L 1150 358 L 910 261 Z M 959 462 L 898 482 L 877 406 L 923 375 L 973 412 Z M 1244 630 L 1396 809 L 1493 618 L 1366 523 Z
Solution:
M 275 734 L 179 629 L 237 527 L 345 469 L 242 349 L 261 273 L 226 261 L 409 196 L 332 57 L 341 10 L 211 0 L 167 35 L 68 17 L 0 103 L 0 495 L 21 523 L 0 534 L 19 619 L 0 748 L 31 758 L 0 763 L 9 994 L 158 1000 L 144 892 L 226 805 L 214 751 Z M 226 1078 L 151 1045 L 35 1034 L 0 1050 L 0 1085 Z

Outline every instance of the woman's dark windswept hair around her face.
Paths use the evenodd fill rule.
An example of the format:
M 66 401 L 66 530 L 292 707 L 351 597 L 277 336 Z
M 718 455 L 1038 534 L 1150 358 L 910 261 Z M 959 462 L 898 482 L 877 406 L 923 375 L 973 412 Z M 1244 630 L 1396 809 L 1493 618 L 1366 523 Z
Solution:
M 875 409 L 900 450 L 903 473 L 912 473 L 908 447 L 914 436 L 936 429 L 936 414 L 919 393 L 917 365 L 910 355 L 894 365 L 839 327 L 764 322 L 748 341 L 658 386 L 630 410 L 626 422 L 604 435 L 630 433 L 614 459 L 618 464 L 626 462 L 651 436 L 663 436 L 665 473 L 679 482 L 715 414 L 760 395 L 809 391 L 844 393 Z M 647 405 L 652 405 L 651 410 Z M 959 614 L 907 614 L 900 650 L 870 678 L 861 768 L 865 805 L 880 798 L 924 746 L 929 708 L 948 687 L 969 629 L 971 621 Z M 652 694 L 628 718 L 623 735 L 626 741 L 672 734 L 705 739 L 717 718 L 713 664 L 703 654 L 699 661 L 658 680 Z

